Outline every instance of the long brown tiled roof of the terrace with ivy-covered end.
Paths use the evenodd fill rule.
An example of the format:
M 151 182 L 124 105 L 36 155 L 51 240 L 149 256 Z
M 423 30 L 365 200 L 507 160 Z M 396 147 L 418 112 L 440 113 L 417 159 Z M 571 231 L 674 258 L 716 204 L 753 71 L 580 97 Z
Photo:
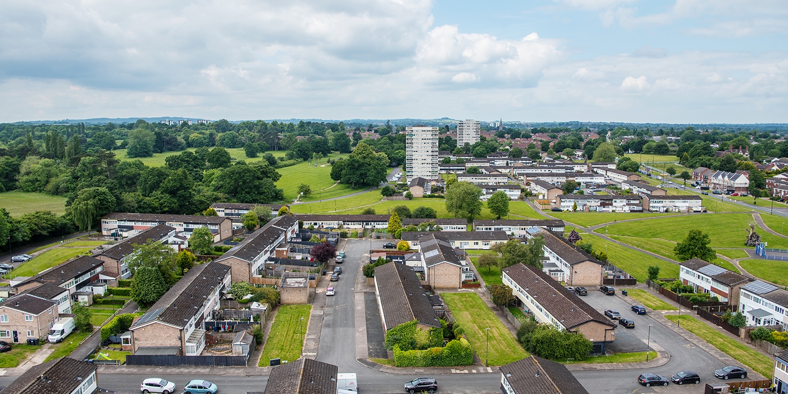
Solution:
M 422 282 L 411 267 L 388 262 L 375 268 L 375 286 L 388 329 L 414 319 L 424 325 L 440 327 Z

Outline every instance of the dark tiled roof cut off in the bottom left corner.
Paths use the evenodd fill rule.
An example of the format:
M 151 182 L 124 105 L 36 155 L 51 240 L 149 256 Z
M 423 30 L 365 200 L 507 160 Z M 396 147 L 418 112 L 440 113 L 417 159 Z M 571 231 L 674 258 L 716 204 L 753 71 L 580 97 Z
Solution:
M 0 394 L 60 394 L 74 392 L 99 366 L 91 362 L 61 357 L 32 366 Z

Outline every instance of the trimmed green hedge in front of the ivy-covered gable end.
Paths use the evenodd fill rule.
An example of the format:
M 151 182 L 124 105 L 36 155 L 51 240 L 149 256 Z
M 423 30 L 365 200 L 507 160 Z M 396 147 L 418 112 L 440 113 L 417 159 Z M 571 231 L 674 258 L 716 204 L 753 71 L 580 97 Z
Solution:
M 401 351 L 394 347 L 396 366 L 470 366 L 474 363 L 474 350 L 465 338 L 450 340 L 444 348 Z

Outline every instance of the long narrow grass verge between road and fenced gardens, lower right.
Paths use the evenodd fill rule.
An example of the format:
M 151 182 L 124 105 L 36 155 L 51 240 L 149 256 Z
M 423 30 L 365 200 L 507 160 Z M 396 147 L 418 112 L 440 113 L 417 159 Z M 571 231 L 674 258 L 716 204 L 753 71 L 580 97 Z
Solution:
M 671 322 L 678 322 L 679 316 L 672 314 L 666 315 L 665 318 Z M 749 366 L 758 374 L 764 375 L 767 379 L 771 378 L 771 374 L 774 372 L 775 362 L 767 356 L 760 354 L 760 352 L 753 350 L 753 348 L 749 348 L 745 344 L 730 339 L 725 334 L 720 333 L 716 329 L 712 329 L 712 327 L 692 316 L 682 314 L 681 326 L 690 333 L 700 336 L 702 340 L 712 344 L 712 346 L 723 351 L 725 354 L 730 355 L 730 357 L 733 357 L 736 361 L 742 362 L 745 366 Z

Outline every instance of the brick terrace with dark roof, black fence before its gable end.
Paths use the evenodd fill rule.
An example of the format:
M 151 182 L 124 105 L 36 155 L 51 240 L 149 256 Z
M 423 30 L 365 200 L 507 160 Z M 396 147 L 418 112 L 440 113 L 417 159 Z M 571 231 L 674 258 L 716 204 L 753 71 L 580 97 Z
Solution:
M 132 353 L 199 355 L 205 348 L 203 322 L 213 320 L 219 296 L 229 289 L 230 267 L 206 262 L 189 269 L 141 317 L 131 331 Z

